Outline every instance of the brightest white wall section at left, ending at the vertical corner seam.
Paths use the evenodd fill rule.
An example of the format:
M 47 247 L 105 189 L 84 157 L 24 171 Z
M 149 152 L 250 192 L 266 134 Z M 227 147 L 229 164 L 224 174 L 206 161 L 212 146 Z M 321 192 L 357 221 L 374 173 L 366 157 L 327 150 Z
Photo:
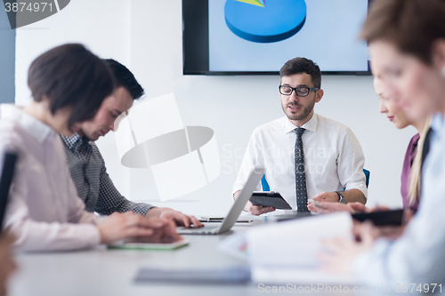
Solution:
M 130 63 L 131 1 L 75 0 L 52 17 L 17 29 L 16 103 L 26 105 L 31 100 L 28 90 L 28 68 L 36 57 L 52 47 L 66 43 L 85 44 L 102 58 Z M 117 163 L 117 148 L 113 135 L 100 143 L 103 156 L 112 172 L 117 172 L 117 188 L 127 193 L 128 169 Z M 108 161 L 110 160 L 110 161 Z

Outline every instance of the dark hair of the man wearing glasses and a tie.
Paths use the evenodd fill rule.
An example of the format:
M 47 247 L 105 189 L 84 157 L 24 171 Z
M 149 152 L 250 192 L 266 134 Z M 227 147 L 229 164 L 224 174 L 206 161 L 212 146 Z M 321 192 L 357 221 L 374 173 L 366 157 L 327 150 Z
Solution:
M 306 58 L 287 60 L 284 66 L 279 70 L 279 78 L 301 73 L 306 73 L 311 76 L 314 87 L 321 87 L 320 67 L 312 60 Z

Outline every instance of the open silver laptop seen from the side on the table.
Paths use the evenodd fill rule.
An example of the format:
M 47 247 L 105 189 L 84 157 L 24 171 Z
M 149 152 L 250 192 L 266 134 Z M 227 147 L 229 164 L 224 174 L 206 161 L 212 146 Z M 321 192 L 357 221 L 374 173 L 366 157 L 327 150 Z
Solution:
M 181 235 L 220 235 L 226 231 L 229 231 L 235 222 L 237 221 L 239 214 L 243 211 L 244 206 L 249 200 L 250 196 L 254 193 L 254 190 L 261 178 L 263 178 L 264 169 L 255 168 L 254 172 L 251 172 L 246 186 L 241 190 L 237 200 L 231 207 L 231 211 L 224 218 L 221 226 L 205 226 L 203 228 L 176 228 L 176 232 Z

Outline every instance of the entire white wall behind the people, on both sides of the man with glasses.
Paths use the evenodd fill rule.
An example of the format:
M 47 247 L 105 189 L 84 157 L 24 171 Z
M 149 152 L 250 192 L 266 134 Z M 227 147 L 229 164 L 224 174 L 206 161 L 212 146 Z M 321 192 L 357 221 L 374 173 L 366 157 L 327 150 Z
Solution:
M 148 169 L 120 165 L 109 134 L 98 141 L 117 188 L 134 200 L 150 201 L 197 215 L 222 215 L 231 206 L 236 178 L 251 132 L 282 116 L 278 76 L 182 76 L 181 0 L 76 0 L 53 17 L 17 32 L 17 102 L 26 103 L 26 71 L 38 54 L 56 44 L 81 42 L 101 57 L 128 66 L 147 98 L 174 92 L 185 125 L 214 129 L 222 174 L 206 188 L 160 203 Z M 370 76 L 323 76 L 325 97 L 316 112 L 349 127 L 360 140 L 371 171 L 369 204 L 401 205 L 401 165 L 413 128 L 397 131 L 377 112 Z

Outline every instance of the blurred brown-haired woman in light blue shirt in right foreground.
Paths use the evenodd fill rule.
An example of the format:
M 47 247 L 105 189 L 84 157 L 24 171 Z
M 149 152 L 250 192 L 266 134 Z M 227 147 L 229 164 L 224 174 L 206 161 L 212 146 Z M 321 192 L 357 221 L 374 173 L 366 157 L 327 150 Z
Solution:
M 433 292 L 445 281 L 445 0 L 375 0 L 361 37 L 388 98 L 411 121 L 434 115 L 422 199 L 400 238 L 374 240 L 364 224 L 360 242 L 329 241 L 320 257 L 325 269 L 352 271 L 363 283 L 428 284 Z

